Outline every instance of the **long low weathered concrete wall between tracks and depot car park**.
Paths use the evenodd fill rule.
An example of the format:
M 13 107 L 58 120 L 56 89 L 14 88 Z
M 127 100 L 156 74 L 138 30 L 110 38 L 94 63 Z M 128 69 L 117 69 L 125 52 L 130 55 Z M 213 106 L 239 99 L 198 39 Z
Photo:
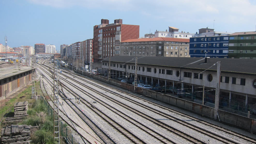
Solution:
M 78 70 L 77 73 L 81 74 L 82 71 Z M 106 78 L 106 77 L 102 77 L 102 76 L 94 75 L 94 74 L 91 75 L 90 73 L 84 73 L 84 75 L 93 76 L 95 79 L 99 79 L 104 82 L 108 82 L 108 78 Z M 130 91 L 133 91 L 133 86 L 129 85 L 127 83 L 122 83 L 120 81 L 113 80 L 113 79 L 111 79 L 109 83 L 112 85 L 115 85 L 115 86 L 129 89 Z M 142 91 L 142 88 L 139 88 L 139 87 L 137 87 L 136 91 L 139 94 L 146 95 L 148 97 L 152 97 L 159 101 L 163 101 L 163 102 L 175 105 L 177 107 L 181 107 L 183 109 L 189 110 L 191 112 L 207 116 L 211 119 L 214 118 L 214 108 L 213 107 L 190 102 L 187 100 L 183 100 L 181 98 L 173 97 L 171 95 L 165 95 L 162 93 L 153 92 L 153 91 L 150 91 L 147 89 L 143 89 L 143 91 Z M 228 123 L 228 124 L 231 124 L 231 125 L 234 125 L 234 126 L 246 129 L 246 130 L 250 130 L 252 132 L 256 132 L 256 120 L 255 119 L 247 118 L 245 116 L 237 115 L 237 114 L 222 111 L 222 110 L 219 110 L 219 116 L 220 116 L 221 122 Z

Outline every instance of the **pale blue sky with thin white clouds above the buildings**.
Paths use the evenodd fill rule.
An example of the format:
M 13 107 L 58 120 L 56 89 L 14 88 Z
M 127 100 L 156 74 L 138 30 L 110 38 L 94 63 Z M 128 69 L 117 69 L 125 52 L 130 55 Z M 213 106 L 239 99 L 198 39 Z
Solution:
M 255 31 L 256 0 L 0 0 L 0 43 L 72 44 L 93 38 L 101 19 L 140 25 L 140 37 L 169 26 L 190 33 Z M 215 20 L 215 21 L 214 21 Z

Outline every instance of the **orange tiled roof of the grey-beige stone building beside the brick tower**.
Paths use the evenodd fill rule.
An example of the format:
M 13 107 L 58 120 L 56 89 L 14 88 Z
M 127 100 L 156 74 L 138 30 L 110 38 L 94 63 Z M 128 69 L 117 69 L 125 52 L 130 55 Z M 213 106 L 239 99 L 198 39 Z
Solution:
M 143 41 L 177 41 L 177 42 L 189 42 L 189 39 L 180 39 L 180 38 L 142 38 L 142 39 L 129 39 L 121 42 L 143 42 Z

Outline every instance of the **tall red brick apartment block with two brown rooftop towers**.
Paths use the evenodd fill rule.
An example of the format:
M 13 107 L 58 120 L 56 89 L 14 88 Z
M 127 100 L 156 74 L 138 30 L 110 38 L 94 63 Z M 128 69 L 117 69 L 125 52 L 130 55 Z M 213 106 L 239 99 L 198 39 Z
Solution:
M 99 62 L 110 56 L 120 55 L 121 42 L 139 38 L 139 25 L 123 24 L 122 19 L 101 19 L 100 25 L 93 27 L 93 61 Z

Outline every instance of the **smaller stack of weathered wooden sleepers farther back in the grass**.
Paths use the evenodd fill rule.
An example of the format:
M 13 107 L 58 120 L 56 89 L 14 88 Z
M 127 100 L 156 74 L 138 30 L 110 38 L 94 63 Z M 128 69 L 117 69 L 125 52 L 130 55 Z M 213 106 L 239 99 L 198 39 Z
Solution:
M 17 102 L 14 104 L 14 116 L 27 115 L 28 101 Z

